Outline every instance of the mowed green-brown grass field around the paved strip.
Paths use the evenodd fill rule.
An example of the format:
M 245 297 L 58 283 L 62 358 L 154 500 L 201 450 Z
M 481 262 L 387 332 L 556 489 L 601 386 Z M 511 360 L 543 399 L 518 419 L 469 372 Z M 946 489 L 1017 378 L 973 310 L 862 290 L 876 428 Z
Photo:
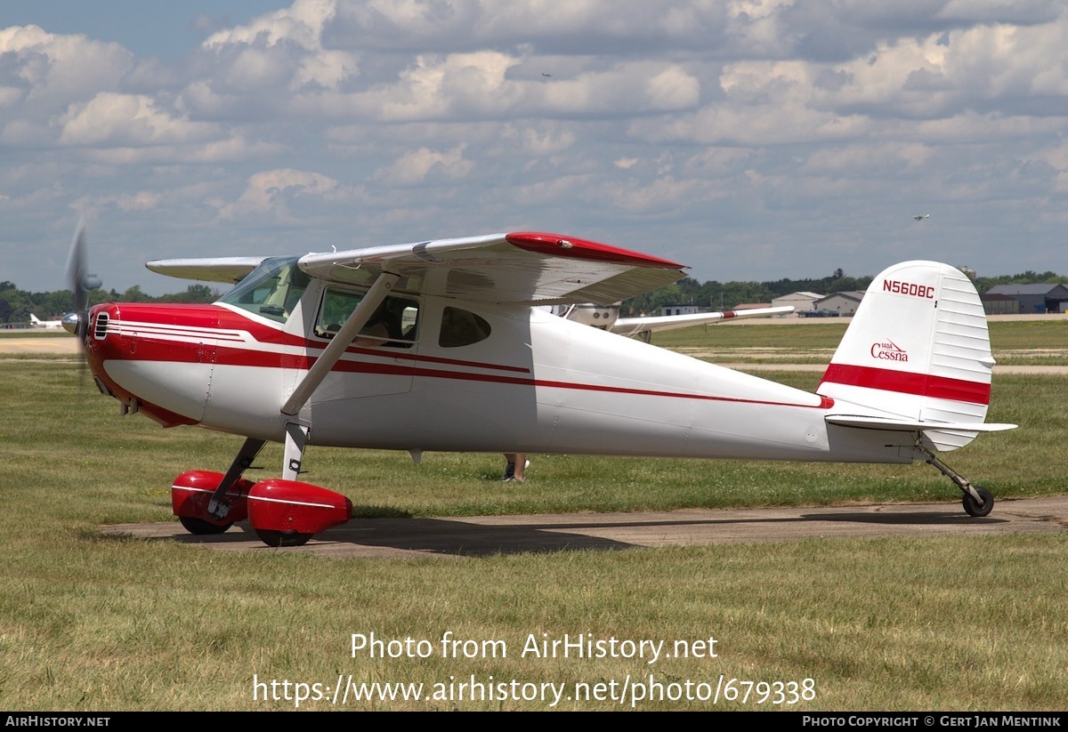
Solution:
M 88 380 L 79 388 L 75 364 L 3 360 L 0 375 L 9 466 L 0 478 L 0 706 L 7 710 L 288 710 L 294 684 L 332 690 L 339 675 L 422 683 L 430 699 L 350 698 L 344 706 L 308 699 L 300 709 L 630 709 L 630 700 L 574 698 L 577 685 L 592 691 L 601 683 L 608 693 L 628 678 L 651 682 L 654 699 L 634 703 L 642 710 L 1065 707 L 1063 535 L 426 559 L 321 559 L 109 538 L 100 525 L 174 521 L 174 476 L 224 470 L 240 439 L 120 417 L 117 402 Z M 812 388 L 819 375 L 761 376 Z M 1063 494 L 1066 387 L 1061 376 L 995 378 L 988 418 L 1020 429 L 983 435 L 947 461 L 999 498 Z M 498 481 L 498 455 L 429 453 L 420 465 L 387 451 L 312 448 L 307 457 L 310 481 L 345 493 L 367 515 L 917 500 L 959 507 L 959 491 L 924 464 L 535 455 L 528 482 L 516 486 Z M 281 452 L 268 450 L 257 464 L 277 475 Z M 473 657 L 445 657 L 446 632 L 476 641 L 466 647 Z M 354 657 L 352 634 L 371 633 L 427 640 L 431 652 Z M 647 663 L 522 654 L 532 637 L 565 634 L 572 641 L 663 641 L 673 655 L 675 640 L 716 638 L 717 656 Z M 721 674 L 796 682 L 799 693 L 814 694 L 758 704 L 754 688 L 748 700 L 721 698 L 714 707 L 696 698 Z M 254 681 L 271 680 L 277 696 L 290 683 L 289 700 L 265 700 L 267 687 L 254 696 Z M 537 698 L 457 699 L 458 684 L 471 681 L 503 682 Z M 567 689 L 555 706 L 549 684 Z

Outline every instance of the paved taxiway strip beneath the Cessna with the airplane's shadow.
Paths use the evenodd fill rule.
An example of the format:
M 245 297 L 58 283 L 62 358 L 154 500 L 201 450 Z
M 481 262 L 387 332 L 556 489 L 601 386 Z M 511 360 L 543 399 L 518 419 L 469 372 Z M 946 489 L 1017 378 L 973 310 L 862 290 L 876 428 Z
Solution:
M 1068 496 L 1004 499 L 977 519 L 959 502 L 635 513 L 449 519 L 355 519 L 303 546 L 271 548 L 239 524 L 192 536 L 177 521 L 104 526 L 111 536 L 177 541 L 213 550 L 299 552 L 323 557 L 441 557 L 693 546 L 803 539 L 992 536 L 1068 531 Z

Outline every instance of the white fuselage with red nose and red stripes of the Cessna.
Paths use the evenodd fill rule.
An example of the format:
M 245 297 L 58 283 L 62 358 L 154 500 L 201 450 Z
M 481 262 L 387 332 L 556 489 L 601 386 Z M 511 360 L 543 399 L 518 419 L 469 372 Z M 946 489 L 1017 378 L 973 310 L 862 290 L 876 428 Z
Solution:
M 302 307 L 318 302 L 314 289 L 304 293 Z M 815 394 L 545 309 L 426 297 L 419 302 L 419 335 L 410 346 L 350 347 L 296 415 L 310 427 L 310 444 L 847 462 L 913 458 L 908 433 L 828 425 L 832 402 Z M 489 336 L 442 347 L 442 313 L 452 306 L 477 314 Z M 148 308 L 127 318 L 119 307 L 107 337 L 120 347 L 101 352 L 99 364 L 91 359 L 114 392 L 186 424 L 265 440 L 284 440 L 293 417 L 282 415 L 281 405 L 329 343 L 314 336 L 312 316 L 300 311 L 281 325 L 207 306 L 218 312 L 219 324 L 210 328 L 205 320 L 216 316 L 205 307 L 195 324 L 167 327 L 148 322 Z

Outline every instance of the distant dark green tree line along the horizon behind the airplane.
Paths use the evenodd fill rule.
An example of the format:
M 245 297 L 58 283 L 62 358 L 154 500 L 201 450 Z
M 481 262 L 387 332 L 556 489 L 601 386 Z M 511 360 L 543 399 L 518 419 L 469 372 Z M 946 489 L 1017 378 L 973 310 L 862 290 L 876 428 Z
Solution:
M 995 285 L 1032 285 L 1037 283 L 1068 284 L 1068 277 L 1055 272 L 1020 272 L 1019 274 L 1003 274 L 994 277 L 974 277 L 975 288 L 986 292 Z M 717 282 L 710 280 L 704 284 L 692 277 L 684 277 L 676 283 L 650 290 L 635 298 L 624 301 L 622 315 L 633 317 L 654 315 L 666 305 L 697 305 L 712 309 L 732 309 L 747 303 L 770 303 L 791 292 L 817 292 L 832 295 L 866 290 L 871 283 L 871 276 L 848 276 L 842 269 L 836 269 L 826 277 L 808 280 L 782 279 L 774 282 Z M 101 302 L 176 302 L 176 303 L 209 303 L 219 299 L 219 291 L 206 285 L 190 285 L 184 292 L 153 297 L 141 291 L 134 285 L 125 292 L 115 290 L 93 290 L 89 293 L 89 303 L 95 305 Z M 74 295 L 70 290 L 54 292 L 28 292 L 20 290 L 11 282 L 0 282 L 0 323 L 29 322 L 30 314 L 42 320 L 62 317 L 74 309 Z

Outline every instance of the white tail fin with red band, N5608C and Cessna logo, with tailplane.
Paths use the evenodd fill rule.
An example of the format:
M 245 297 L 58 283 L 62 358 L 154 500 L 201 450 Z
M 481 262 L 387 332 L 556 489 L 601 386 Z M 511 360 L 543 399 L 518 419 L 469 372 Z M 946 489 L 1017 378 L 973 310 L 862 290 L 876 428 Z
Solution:
M 983 424 L 993 366 L 971 280 L 948 265 L 906 261 L 871 281 L 816 391 L 836 402 L 828 421 L 921 431 L 930 447 L 952 450 L 1011 427 Z

